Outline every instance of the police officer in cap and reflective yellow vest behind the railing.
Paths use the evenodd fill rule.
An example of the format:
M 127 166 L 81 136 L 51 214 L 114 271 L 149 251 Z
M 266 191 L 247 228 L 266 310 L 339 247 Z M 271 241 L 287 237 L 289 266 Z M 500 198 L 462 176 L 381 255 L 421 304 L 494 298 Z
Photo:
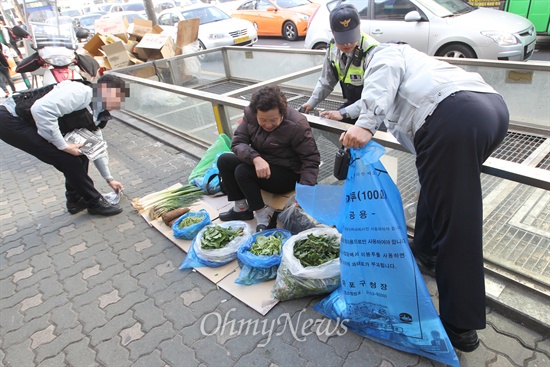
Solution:
M 346 102 L 337 111 L 323 111 L 320 116 L 331 120 L 355 123 L 361 112 L 361 92 L 368 51 L 378 42 L 361 32 L 357 9 L 350 4 L 337 6 L 330 13 L 334 38 L 327 50 L 321 78 L 309 100 L 302 106 L 308 113 L 340 83 Z

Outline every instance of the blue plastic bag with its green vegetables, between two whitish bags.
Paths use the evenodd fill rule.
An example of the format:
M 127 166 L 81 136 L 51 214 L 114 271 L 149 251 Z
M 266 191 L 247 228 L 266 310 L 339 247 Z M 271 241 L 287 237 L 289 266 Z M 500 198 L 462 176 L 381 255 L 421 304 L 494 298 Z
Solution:
M 281 228 L 253 234 L 237 251 L 241 272 L 235 283 L 250 285 L 275 279 L 283 245 L 291 236 Z

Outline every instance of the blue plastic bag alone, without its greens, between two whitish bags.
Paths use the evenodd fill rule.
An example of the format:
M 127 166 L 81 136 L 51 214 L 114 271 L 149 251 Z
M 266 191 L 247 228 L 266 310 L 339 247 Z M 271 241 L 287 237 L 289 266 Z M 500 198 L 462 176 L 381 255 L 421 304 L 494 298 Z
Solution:
M 279 233 L 282 236 L 282 245 L 292 234 L 286 229 L 275 228 L 253 234 L 237 251 L 237 260 L 241 267 L 241 272 L 235 283 L 251 285 L 265 282 L 270 279 L 275 279 L 277 276 L 277 268 L 281 263 L 281 254 L 278 255 L 254 255 L 250 252 L 250 248 L 256 242 L 259 236 L 269 237 Z M 281 252 L 282 248 L 281 246 Z

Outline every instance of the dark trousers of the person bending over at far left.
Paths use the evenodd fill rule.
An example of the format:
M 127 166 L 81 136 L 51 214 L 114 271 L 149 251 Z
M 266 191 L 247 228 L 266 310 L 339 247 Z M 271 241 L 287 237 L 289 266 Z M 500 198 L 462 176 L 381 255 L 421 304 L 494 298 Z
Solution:
M 74 156 L 57 149 L 38 135 L 35 126 L 14 117 L 4 106 L 0 106 L 0 139 L 63 173 L 68 200 L 76 201 L 82 197 L 87 205 L 92 205 L 101 196 L 88 176 L 89 160 L 86 156 Z

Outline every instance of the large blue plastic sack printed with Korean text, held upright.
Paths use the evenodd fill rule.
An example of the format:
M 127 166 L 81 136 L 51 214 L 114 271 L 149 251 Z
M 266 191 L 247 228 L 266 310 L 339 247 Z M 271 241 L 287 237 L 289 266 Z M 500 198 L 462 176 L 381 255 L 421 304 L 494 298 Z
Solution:
M 340 287 L 314 308 L 381 344 L 459 366 L 410 251 L 399 190 L 379 161 L 384 148 L 371 141 L 351 153 L 343 189 L 296 187 L 298 204 L 342 233 Z

